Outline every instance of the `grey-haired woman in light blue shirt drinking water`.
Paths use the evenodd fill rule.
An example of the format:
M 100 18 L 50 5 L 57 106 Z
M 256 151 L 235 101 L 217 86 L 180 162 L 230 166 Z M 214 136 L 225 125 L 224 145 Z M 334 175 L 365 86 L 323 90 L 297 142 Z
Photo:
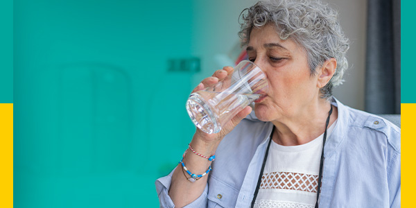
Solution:
M 319 1 L 265 1 L 241 17 L 240 37 L 268 94 L 218 134 L 196 130 L 181 164 L 156 182 L 161 207 L 400 207 L 400 129 L 331 96 L 349 47 L 336 11 Z

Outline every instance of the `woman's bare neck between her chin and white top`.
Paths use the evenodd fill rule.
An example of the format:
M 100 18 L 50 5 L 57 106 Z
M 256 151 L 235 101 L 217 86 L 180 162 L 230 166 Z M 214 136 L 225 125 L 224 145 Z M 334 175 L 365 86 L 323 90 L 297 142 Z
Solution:
M 326 121 L 331 110 L 331 103 L 325 99 L 318 99 L 315 105 L 310 105 L 286 116 L 279 121 L 272 121 L 275 132 L 273 141 L 283 146 L 296 146 L 306 144 L 322 135 L 325 131 Z M 338 109 L 333 106 L 328 127 L 338 118 Z

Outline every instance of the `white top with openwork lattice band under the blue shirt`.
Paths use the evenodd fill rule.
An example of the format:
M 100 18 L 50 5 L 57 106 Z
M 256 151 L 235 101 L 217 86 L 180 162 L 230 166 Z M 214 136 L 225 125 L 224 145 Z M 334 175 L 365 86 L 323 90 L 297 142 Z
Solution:
M 329 126 L 327 138 L 336 122 Z M 323 139 L 324 134 L 297 146 L 272 141 L 254 207 L 315 207 Z

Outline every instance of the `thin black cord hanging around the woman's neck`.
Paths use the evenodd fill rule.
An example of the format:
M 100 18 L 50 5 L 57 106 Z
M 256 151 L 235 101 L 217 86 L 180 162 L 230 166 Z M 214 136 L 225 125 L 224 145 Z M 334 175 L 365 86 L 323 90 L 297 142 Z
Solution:
M 324 146 L 325 146 L 325 141 L 327 141 L 327 129 L 328 129 L 328 124 L 329 124 L 329 119 L 331 119 L 331 114 L 332 114 L 332 105 L 331 105 L 331 110 L 329 110 L 328 113 L 328 118 L 327 118 L 327 123 L 325 123 L 325 132 L 324 132 L 324 139 L 322 141 L 322 153 L 321 153 L 321 158 L 320 158 L 320 165 L 319 165 L 319 177 L 318 177 L 318 187 L 316 190 L 316 204 L 315 204 L 315 208 L 318 208 L 318 200 L 319 200 L 319 196 L 320 196 L 320 187 L 322 185 L 322 169 L 324 167 Z M 260 188 L 260 184 L 261 184 L 261 177 L 263 176 L 263 171 L 264 171 L 264 166 L 266 166 L 266 161 L 267 161 L 267 157 L 268 157 L 268 150 L 270 148 L 270 144 L 272 141 L 272 136 L 273 136 L 273 132 L 275 132 L 275 127 L 273 126 L 273 130 L 270 133 L 270 139 L 266 148 L 266 153 L 264 155 L 264 159 L 263 159 L 263 164 L 261 165 L 261 170 L 260 170 L 260 175 L 259 175 L 259 180 L 257 180 L 257 186 L 256 186 L 256 190 L 254 191 L 254 198 L 252 200 L 252 205 L 251 207 L 254 207 L 254 202 L 256 202 L 256 198 L 257 198 L 257 194 L 259 193 L 259 188 Z

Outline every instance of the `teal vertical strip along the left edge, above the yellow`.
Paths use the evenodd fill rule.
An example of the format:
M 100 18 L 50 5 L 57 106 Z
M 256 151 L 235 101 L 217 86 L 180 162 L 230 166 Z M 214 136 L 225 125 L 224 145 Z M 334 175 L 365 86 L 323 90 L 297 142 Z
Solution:
M 0 1 L 0 103 L 13 103 L 13 1 Z

